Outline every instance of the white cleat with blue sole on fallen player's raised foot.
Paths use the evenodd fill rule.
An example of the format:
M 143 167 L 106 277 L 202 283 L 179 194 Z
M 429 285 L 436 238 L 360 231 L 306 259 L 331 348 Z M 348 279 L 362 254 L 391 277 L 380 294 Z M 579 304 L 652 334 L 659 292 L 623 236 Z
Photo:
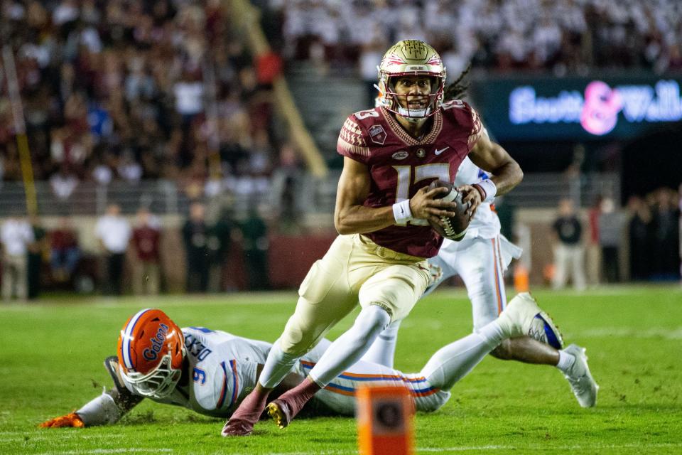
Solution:
M 556 324 L 528 292 L 511 299 L 497 321 L 509 338 L 529 336 L 555 349 L 563 348 L 563 338 Z

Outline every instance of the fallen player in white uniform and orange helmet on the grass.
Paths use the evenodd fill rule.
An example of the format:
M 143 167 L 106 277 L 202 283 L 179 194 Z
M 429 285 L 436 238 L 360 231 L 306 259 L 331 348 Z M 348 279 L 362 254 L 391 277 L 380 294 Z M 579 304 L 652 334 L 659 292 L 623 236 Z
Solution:
M 435 411 L 448 401 L 455 382 L 504 339 L 521 333 L 552 333 L 551 340 L 545 338 L 561 342 L 561 334 L 529 294 L 519 294 L 508 308 L 480 333 L 440 348 L 419 373 L 401 373 L 360 360 L 315 395 L 310 414 L 353 415 L 354 391 L 362 385 L 404 385 L 416 410 Z M 303 381 L 330 344 L 323 339 L 304 355 L 279 391 Z M 181 329 L 159 309 L 138 311 L 121 328 L 118 355 L 104 360 L 114 387 L 76 412 L 50 419 L 40 427 L 112 424 L 145 397 L 212 417 L 229 417 L 256 385 L 271 347 L 265 341 L 204 327 Z

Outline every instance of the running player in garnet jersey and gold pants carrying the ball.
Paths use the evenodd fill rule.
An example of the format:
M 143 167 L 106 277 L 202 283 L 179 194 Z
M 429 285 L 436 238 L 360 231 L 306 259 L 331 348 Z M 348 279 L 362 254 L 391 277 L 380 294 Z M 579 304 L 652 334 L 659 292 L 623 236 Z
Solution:
M 454 203 L 428 190 L 454 181 L 469 156 L 491 178 L 461 188 L 470 215 L 523 177 L 507 151 L 490 141 L 467 103 L 443 103 L 445 67 L 422 41 L 393 45 L 379 64 L 382 105 L 351 114 L 337 142 L 344 157 L 334 221 L 339 236 L 298 290 L 296 311 L 270 350 L 258 383 L 225 424 L 224 436 L 251 434 L 270 390 L 296 360 L 359 304 L 353 326 L 325 351 L 308 377 L 268 405 L 286 427 L 315 392 L 347 370 L 393 321 L 404 319 L 429 282 L 426 259 L 443 237 L 428 224 L 455 216 Z

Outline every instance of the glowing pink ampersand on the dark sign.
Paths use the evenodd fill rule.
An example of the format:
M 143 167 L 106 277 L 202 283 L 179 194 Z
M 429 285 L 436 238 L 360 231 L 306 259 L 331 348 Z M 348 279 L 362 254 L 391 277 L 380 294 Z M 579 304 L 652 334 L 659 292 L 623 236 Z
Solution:
M 618 122 L 618 112 L 623 100 L 618 90 L 600 80 L 590 82 L 585 88 L 585 104 L 580 114 L 580 124 L 585 131 L 597 136 L 611 132 Z

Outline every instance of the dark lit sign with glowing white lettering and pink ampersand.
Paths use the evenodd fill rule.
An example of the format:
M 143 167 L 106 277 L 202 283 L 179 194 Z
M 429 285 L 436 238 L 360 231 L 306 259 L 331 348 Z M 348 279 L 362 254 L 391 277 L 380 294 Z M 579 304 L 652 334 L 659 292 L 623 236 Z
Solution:
M 487 80 L 473 87 L 499 140 L 628 139 L 682 120 L 682 78 Z

